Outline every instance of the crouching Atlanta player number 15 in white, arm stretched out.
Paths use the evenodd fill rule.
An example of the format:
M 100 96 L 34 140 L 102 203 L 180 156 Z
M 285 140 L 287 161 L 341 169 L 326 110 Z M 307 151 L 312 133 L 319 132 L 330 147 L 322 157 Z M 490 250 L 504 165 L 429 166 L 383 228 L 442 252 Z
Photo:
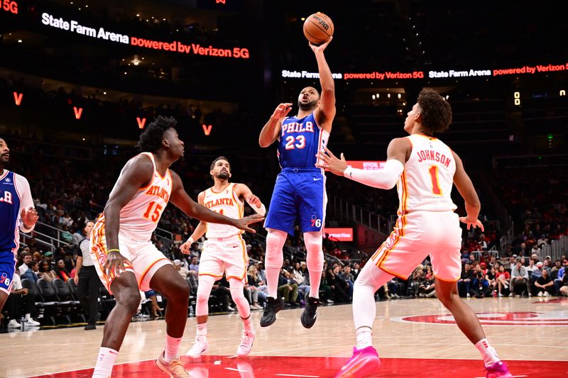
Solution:
M 91 256 L 102 283 L 116 298 L 104 324 L 102 346 L 93 377 L 110 377 L 140 291 L 150 288 L 168 299 L 165 311 L 165 350 L 156 359 L 170 377 L 190 377 L 178 358 L 187 321 L 190 288 L 170 260 L 151 243 L 151 236 L 168 201 L 188 216 L 210 223 L 224 223 L 254 232 L 249 224 L 263 219 L 235 219 L 195 203 L 170 166 L 183 156 L 183 142 L 173 118 L 158 117 L 141 133 L 143 152 L 124 165 L 119 179 L 91 233 Z

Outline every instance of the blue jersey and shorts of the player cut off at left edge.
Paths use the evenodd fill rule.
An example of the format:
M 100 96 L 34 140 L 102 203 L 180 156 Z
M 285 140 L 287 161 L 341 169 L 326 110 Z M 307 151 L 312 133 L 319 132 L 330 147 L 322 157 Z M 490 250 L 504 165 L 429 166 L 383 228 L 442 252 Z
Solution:
M 14 174 L 4 171 L 0 178 L 0 289 L 10 294 L 13 272 L 16 270 L 18 248 L 20 196 L 14 184 Z

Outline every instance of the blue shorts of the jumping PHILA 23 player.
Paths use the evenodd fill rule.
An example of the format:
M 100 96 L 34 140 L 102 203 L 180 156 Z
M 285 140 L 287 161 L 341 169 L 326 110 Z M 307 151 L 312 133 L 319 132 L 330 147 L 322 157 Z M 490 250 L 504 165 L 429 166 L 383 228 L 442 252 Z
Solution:
M 325 175 L 318 168 L 284 168 L 276 177 L 265 228 L 294 235 L 295 222 L 302 233 L 324 228 L 327 194 Z

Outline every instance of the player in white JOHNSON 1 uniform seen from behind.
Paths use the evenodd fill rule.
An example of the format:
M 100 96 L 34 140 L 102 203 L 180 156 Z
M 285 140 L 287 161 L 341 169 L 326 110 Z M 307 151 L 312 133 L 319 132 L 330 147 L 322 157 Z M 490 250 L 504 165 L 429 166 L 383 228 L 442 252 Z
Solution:
M 320 167 L 334 174 L 381 189 L 397 184 L 400 201 L 393 232 L 357 276 L 353 292 L 357 346 L 336 377 L 365 377 L 381 366 L 372 345 L 374 293 L 395 276 L 407 279 L 427 255 L 432 260 L 436 296 L 481 352 L 487 377 L 513 377 L 489 345 L 474 311 L 461 301 L 457 291 L 461 273 L 459 222 L 466 223 L 468 229 L 484 228 L 477 219 L 479 198 L 459 156 L 433 136 L 447 130 L 451 122 L 452 108 L 448 102 L 437 91 L 424 89 L 405 120 L 404 130 L 410 136 L 391 140 L 384 169 L 354 169 L 347 167 L 343 154 L 339 160 L 329 150 L 327 155 L 320 152 Z M 467 216 L 459 218 L 454 213 L 452 183 L 464 198 Z

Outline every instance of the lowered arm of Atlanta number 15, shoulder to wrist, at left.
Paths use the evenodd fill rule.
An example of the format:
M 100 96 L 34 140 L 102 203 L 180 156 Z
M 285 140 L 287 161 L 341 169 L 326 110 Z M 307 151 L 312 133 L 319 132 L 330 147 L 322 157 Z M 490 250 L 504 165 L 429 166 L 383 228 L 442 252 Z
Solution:
M 104 235 L 107 239 L 107 250 L 119 248 L 120 211 L 138 189 L 151 182 L 153 172 L 152 161 L 144 155 L 138 155 L 124 165 L 122 176 L 114 185 L 109 201 L 104 206 Z

